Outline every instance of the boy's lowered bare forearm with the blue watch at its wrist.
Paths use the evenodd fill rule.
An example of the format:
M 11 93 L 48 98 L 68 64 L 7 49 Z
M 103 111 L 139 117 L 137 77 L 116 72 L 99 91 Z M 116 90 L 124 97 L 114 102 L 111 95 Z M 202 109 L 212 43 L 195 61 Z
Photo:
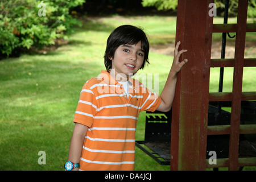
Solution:
M 73 163 L 80 162 L 82 145 L 84 143 L 84 138 L 87 133 L 87 130 L 88 130 L 88 126 L 75 123 L 73 135 L 72 135 L 70 146 L 69 146 L 68 161 L 71 161 Z M 79 168 L 75 168 L 72 170 L 77 171 L 79 170 Z

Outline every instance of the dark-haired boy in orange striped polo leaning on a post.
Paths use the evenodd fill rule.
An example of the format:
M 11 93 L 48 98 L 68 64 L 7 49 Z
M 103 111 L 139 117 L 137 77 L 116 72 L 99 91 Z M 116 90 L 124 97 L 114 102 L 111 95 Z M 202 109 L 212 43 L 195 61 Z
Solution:
M 82 88 L 73 122 L 67 170 L 134 170 L 135 130 L 139 112 L 169 111 L 174 100 L 176 75 L 187 60 L 174 62 L 160 97 L 131 78 L 148 63 L 149 44 L 144 32 L 124 25 L 110 34 L 105 67 Z

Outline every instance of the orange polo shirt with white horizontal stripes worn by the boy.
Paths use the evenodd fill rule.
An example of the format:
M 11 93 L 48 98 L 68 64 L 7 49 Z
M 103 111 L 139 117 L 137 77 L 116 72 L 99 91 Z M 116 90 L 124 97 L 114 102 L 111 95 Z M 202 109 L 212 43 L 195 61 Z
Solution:
M 88 126 L 81 170 L 134 170 L 135 130 L 140 111 L 155 111 L 161 99 L 141 82 L 129 79 L 129 98 L 122 84 L 101 71 L 82 87 L 73 122 Z

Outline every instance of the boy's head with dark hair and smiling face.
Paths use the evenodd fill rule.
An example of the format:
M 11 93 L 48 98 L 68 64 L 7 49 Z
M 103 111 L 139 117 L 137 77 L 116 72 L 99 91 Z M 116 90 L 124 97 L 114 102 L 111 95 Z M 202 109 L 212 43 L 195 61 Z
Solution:
M 115 30 L 109 35 L 109 38 L 107 40 L 106 51 L 104 55 L 104 64 L 106 70 L 110 71 L 110 69 L 117 69 L 117 73 L 124 73 L 126 75 L 129 75 L 129 73 L 134 74 L 138 71 L 138 69 L 143 69 L 144 65 L 149 63 L 148 52 L 149 43 L 147 40 L 147 35 L 141 28 L 134 27 L 131 25 L 119 26 L 115 28 Z M 134 56 L 136 55 L 136 53 L 136 60 L 133 61 L 127 59 L 127 56 Z M 120 55 L 122 56 L 119 57 Z M 141 60 L 141 56 L 144 57 L 143 63 L 142 65 L 138 66 L 137 62 Z M 126 68 L 129 68 L 129 72 L 127 72 L 127 70 L 124 71 L 123 69 L 119 69 L 121 67 L 118 66 L 116 60 L 126 61 Z M 113 63 L 115 63 L 114 66 L 112 65 Z

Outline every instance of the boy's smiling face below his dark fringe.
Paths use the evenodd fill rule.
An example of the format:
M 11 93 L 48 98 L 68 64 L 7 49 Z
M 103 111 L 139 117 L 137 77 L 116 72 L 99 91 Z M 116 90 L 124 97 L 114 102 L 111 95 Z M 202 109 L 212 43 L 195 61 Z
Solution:
M 144 51 L 141 48 L 141 41 L 134 45 L 121 45 L 114 53 L 112 60 L 112 69 L 115 70 L 115 76 L 121 75 L 123 78 L 117 81 L 125 81 L 136 73 L 144 61 Z M 126 76 L 126 78 L 124 78 Z

